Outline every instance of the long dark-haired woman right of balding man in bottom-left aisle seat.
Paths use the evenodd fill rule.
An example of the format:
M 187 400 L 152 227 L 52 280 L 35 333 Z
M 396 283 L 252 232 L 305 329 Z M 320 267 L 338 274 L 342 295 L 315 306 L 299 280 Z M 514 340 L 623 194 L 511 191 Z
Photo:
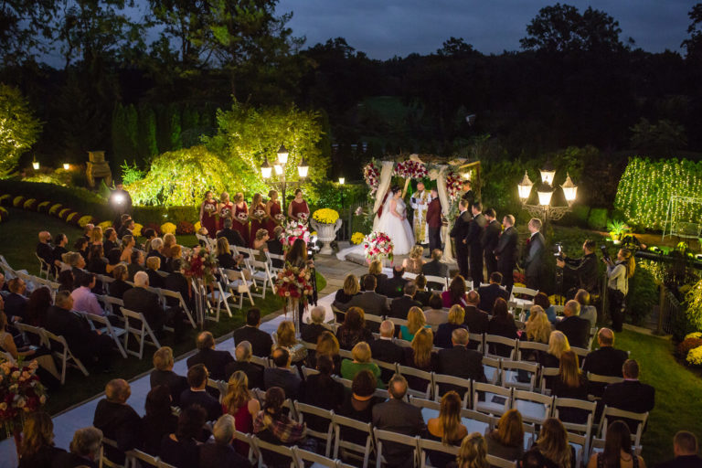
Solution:
M 146 453 L 158 453 L 164 436 L 176 431 L 178 418 L 171 410 L 171 390 L 165 385 L 151 388 L 144 403 L 142 418 L 142 448 Z M 177 405 L 176 405 L 177 406 Z

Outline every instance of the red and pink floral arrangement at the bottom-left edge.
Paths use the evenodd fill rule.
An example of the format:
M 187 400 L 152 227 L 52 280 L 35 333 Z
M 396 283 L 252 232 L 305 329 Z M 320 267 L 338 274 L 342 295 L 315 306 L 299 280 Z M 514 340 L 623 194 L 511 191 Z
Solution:
M 47 402 L 47 393 L 37 376 L 37 361 L 0 363 L 0 423 L 7 436 L 22 431 L 25 415 Z

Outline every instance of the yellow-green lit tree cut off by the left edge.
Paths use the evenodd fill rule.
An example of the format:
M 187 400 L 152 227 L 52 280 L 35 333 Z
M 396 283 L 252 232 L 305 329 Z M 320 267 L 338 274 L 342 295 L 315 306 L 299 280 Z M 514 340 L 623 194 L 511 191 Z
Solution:
M 0 83 L 0 178 L 8 176 L 41 133 L 42 124 L 16 88 Z

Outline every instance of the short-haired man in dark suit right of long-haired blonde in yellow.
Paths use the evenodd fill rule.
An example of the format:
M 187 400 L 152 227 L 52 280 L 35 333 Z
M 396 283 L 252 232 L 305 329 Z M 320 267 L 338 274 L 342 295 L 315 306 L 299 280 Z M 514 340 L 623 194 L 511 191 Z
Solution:
M 453 347 L 439 351 L 439 372 L 447 376 L 486 382 L 483 355 L 473 349 L 468 349 L 466 347 L 468 342 L 468 330 L 465 328 L 453 330 L 451 334 Z M 441 386 L 441 394 L 449 390 L 456 390 L 463 398 L 466 389 L 447 385 Z

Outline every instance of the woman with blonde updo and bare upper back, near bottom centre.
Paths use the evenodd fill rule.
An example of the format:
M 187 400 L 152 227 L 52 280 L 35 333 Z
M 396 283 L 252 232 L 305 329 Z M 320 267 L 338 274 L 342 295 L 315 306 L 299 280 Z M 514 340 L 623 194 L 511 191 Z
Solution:
M 468 430 L 461 422 L 462 400 L 455 391 L 441 397 L 439 416 L 427 421 L 427 439 L 441 441 L 444 445 L 461 445 Z M 454 458 L 445 452 L 429 451 L 432 466 L 446 466 Z

